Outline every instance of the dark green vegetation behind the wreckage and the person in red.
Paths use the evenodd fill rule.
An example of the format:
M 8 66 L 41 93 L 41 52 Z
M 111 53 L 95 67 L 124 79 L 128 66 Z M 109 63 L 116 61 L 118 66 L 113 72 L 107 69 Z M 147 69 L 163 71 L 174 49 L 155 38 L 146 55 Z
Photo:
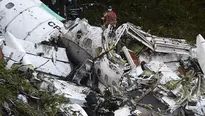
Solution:
M 107 2 L 106 2 L 107 1 Z M 80 4 L 93 0 L 80 1 Z M 118 16 L 118 25 L 126 22 L 142 26 L 151 34 L 184 38 L 195 43 L 196 35 L 205 36 L 204 0 L 98 0 L 83 16 L 92 25 L 100 26 L 106 7 L 111 5 Z

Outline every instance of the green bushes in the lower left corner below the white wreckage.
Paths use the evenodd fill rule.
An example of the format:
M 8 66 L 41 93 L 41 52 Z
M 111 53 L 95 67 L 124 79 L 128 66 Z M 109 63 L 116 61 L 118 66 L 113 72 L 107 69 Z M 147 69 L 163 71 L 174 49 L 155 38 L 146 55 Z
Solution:
M 31 74 L 20 73 L 16 68 L 6 70 L 5 64 L 0 62 L 0 110 L 6 102 L 15 116 L 54 116 L 58 106 L 68 102 L 53 92 L 39 91 L 28 81 Z M 28 103 L 17 99 L 20 89 L 26 93 Z

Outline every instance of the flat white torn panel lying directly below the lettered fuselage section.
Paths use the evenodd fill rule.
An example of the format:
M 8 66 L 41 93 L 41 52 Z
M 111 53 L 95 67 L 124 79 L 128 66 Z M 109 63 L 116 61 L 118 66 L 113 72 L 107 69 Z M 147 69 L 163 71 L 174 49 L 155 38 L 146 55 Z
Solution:
M 35 70 L 47 74 L 59 77 L 66 77 L 70 74 L 71 66 L 65 49 L 59 48 L 59 51 L 55 51 L 51 46 L 41 45 L 39 47 L 34 43 L 16 39 L 9 32 L 5 37 L 6 45 L 3 47 L 3 52 L 7 58 L 23 65 L 32 65 Z M 38 55 L 39 53 L 44 55 Z

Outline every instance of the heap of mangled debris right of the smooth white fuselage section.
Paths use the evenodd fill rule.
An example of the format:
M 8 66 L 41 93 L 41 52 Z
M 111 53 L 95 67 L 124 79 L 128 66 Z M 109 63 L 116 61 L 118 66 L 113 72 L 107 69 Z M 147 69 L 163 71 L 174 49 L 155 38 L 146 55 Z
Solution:
M 90 26 L 84 19 L 75 20 L 74 23 L 78 25 L 75 28 L 71 28 L 72 25 L 68 27 L 70 31 L 64 35 L 64 41 L 78 46 L 77 50 L 85 50 L 83 43 L 89 40 L 92 50 L 96 51 L 99 47 L 102 50 L 97 60 L 92 59 L 97 52 L 94 54 L 86 50 L 84 54 L 92 56 L 89 63 L 86 58 L 84 62 L 76 58 L 83 63 L 73 77 L 83 71 L 90 73 L 86 69 L 90 69 L 88 67 L 92 67 L 93 63 L 96 75 L 89 74 L 87 79 L 79 76 L 79 81 L 88 80 L 86 83 L 90 86 L 90 81 L 97 77 L 104 88 L 110 88 L 111 96 L 121 99 L 115 101 L 119 102 L 116 105 L 122 110 L 129 108 L 131 111 L 133 106 L 140 106 L 141 109 L 151 109 L 151 112 L 162 115 L 204 115 L 203 109 L 199 110 L 197 105 L 203 101 L 203 61 L 199 60 L 202 54 L 197 54 L 202 53 L 198 50 L 202 46 L 191 46 L 183 39 L 153 36 L 130 23 L 116 30 L 108 26 L 101 36 L 99 33 L 102 31 Z M 99 31 L 88 34 L 92 33 L 89 31 L 92 29 Z M 81 35 L 77 37 L 79 31 Z M 77 39 L 78 42 L 74 41 Z M 204 41 L 203 37 L 198 35 L 197 41 Z M 105 51 L 109 52 L 104 54 Z M 69 53 L 73 54 L 71 51 Z M 190 103 L 195 105 L 190 106 Z

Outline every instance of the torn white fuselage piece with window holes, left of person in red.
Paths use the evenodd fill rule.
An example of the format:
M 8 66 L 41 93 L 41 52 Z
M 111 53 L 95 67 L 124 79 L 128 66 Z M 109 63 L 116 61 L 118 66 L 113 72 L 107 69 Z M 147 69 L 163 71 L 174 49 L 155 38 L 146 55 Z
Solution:
M 97 57 L 100 53 L 105 51 L 102 43 L 103 31 L 100 27 L 89 25 L 85 19 L 76 19 L 73 25 L 76 26 L 71 28 L 70 31 L 64 35 L 66 39 L 73 41 L 80 46 L 81 49 L 87 51 L 92 57 Z

